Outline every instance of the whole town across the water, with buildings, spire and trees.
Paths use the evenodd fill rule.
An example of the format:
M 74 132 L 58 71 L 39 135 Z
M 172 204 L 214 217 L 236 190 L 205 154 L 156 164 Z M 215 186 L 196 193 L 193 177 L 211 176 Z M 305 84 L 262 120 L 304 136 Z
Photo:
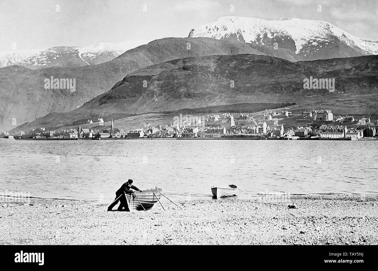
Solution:
M 103 120 L 101 119 L 102 123 Z M 169 124 L 153 125 L 144 123 L 125 131 L 114 126 L 93 129 L 88 120 L 85 127 L 48 130 L 43 127 L 33 129 L 28 134 L 6 133 L 4 138 L 15 139 L 331 139 L 366 140 L 377 139 L 378 125 L 370 117 L 355 119 L 353 116 L 334 116 L 332 110 L 303 111 L 292 114 L 290 111 L 265 110 L 259 116 L 248 113 L 217 113 L 207 116 L 176 116 Z M 303 125 L 296 125 L 302 123 Z M 95 123 L 93 123 L 95 125 Z M 96 126 L 98 127 L 98 126 Z M 105 129 L 106 128 L 106 129 Z

